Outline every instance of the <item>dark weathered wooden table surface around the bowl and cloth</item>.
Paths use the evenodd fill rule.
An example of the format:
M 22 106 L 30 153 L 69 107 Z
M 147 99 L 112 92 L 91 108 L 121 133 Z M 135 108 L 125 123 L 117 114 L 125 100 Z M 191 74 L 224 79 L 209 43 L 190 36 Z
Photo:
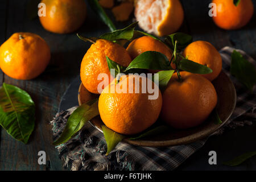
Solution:
M 217 49 L 225 46 L 243 49 L 256 59 L 256 14 L 254 14 L 250 23 L 241 30 L 225 31 L 216 27 L 208 16 L 209 0 L 183 0 L 181 2 L 185 11 L 185 20 L 180 31 L 191 34 L 194 40 L 206 40 Z M 256 1 L 253 2 L 255 6 Z M 52 54 L 51 63 L 46 71 L 33 80 L 14 80 L 0 70 L 0 85 L 2 85 L 2 82 L 6 82 L 19 86 L 31 95 L 36 104 L 35 130 L 27 145 L 17 142 L 5 130 L 0 129 L 0 170 L 62 170 L 62 162 L 58 157 L 57 150 L 51 144 L 52 132 L 49 121 L 56 114 L 61 96 L 63 96 L 67 86 L 73 78 L 79 75 L 82 57 L 90 44 L 79 40 L 75 33 L 58 35 L 44 30 L 38 18 L 32 20 L 27 18 L 27 1 L 25 0 L 1 0 L 0 3 L 1 44 L 14 32 L 33 32 L 46 40 Z M 127 26 L 129 22 L 115 22 L 115 24 L 121 28 Z M 86 36 L 99 36 L 108 31 L 108 27 L 98 20 L 88 6 L 86 21 L 77 32 Z M 246 133 L 246 135 L 241 133 L 241 141 L 248 141 L 246 137 L 255 137 L 255 129 L 255 125 L 240 129 L 243 131 L 242 133 Z M 229 135 L 229 133 L 225 135 Z M 233 135 L 235 136 L 235 134 Z M 214 138 L 211 140 L 214 142 Z M 237 147 L 239 148 L 239 146 Z M 40 150 L 46 151 L 46 165 L 38 164 L 38 151 Z M 236 148 L 232 148 L 232 150 L 236 150 Z M 233 151 L 229 152 L 232 153 Z M 187 166 L 191 166 L 195 159 L 192 156 Z M 184 165 L 186 163 L 180 169 L 191 169 Z M 200 167 L 196 168 L 194 166 L 193 169 L 200 169 Z

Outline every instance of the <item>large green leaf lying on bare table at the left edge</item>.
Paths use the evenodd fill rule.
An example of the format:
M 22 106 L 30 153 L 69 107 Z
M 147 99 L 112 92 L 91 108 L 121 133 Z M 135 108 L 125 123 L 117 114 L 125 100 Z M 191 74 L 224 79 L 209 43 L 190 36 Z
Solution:
M 27 143 L 35 126 L 35 104 L 27 92 L 3 83 L 0 88 L 0 125 L 13 138 Z

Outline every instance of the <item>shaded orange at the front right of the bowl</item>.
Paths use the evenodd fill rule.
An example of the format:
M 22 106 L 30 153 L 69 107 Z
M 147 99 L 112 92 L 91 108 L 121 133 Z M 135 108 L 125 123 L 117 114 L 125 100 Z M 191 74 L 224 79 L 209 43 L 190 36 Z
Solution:
M 212 83 L 203 76 L 180 72 L 171 77 L 163 92 L 160 117 L 176 129 L 200 125 L 217 104 L 217 93 Z

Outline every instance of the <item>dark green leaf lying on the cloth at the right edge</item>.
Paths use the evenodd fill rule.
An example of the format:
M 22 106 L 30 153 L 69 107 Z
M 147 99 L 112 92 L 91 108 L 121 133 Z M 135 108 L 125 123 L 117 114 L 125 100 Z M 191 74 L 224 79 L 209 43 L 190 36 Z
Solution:
M 252 92 L 256 83 L 255 67 L 235 50 L 232 53 L 230 72 Z

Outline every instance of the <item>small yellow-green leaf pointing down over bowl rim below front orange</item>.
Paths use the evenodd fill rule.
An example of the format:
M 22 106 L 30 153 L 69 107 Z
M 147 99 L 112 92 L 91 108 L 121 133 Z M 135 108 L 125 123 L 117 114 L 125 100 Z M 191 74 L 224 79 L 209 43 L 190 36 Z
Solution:
M 103 131 L 103 134 L 104 134 L 107 146 L 108 146 L 106 155 L 109 155 L 109 153 L 115 148 L 115 146 L 117 146 L 117 144 L 119 142 L 122 141 L 123 138 L 125 138 L 125 136 L 123 136 L 119 133 L 116 133 L 113 130 L 110 130 L 105 125 L 101 125 L 101 129 Z

